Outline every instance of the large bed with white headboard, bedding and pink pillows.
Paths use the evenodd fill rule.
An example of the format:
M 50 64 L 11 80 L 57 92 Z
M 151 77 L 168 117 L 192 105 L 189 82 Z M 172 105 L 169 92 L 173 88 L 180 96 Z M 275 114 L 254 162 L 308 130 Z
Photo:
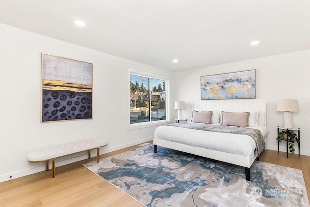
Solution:
M 201 123 L 203 121 L 199 116 L 210 114 L 210 111 L 212 111 L 211 118 L 209 117 L 211 120 L 207 120 L 210 123 Z M 234 120 L 231 120 L 235 116 L 237 118 L 242 116 L 240 121 L 238 119 L 241 127 L 227 126 L 235 124 Z M 246 119 L 244 117 L 248 117 L 248 126 L 243 125 L 246 123 L 241 121 Z M 193 103 L 193 117 L 190 122 L 160 126 L 155 130 L 154 151 L 157 153 L 157 146 L 161 146 L 243 166 L 246 179 L 250 180 L 250 167 L 255 160 L 258 160 L 265 147 L 268 134 L 265 126 L 266 103 Z M 225 132 L 219 128 L 225 128 Z M 243 130 L 247 133 L 239 132 Z M 257 137 L 252 137 L 253 132 Z

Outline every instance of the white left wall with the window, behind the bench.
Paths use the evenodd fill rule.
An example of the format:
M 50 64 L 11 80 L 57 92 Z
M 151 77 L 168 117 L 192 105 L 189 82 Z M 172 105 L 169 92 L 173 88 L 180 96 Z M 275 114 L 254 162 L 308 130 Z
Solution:
M 104 40 L 102 40 L 104 41 Z M 41 52 L 93 63 L 93 119 L 40 123 Z M 156 127 L 127 130 L 128 68 L 171 77 L 145 64 L 0 24 L 0 182 L 45 170 L 29 163 L 32 150 L 94 137 L 101 154 L 152 140 Z M 93 152 L 95 156 L 95 151 Z M 86 159 L 59 158 L 57 166 Z M 57 171 L 56 171 L 57 175 Z

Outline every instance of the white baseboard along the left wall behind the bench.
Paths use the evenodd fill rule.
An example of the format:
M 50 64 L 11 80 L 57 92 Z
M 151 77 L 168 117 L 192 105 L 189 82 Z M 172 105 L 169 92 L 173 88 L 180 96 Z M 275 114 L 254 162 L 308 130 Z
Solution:
M 144 143 L 144 142 L 149 142 L 152 140 L 153 140 L 153 137 L 149 137 L 147 139 L 142 139 L 142 140 L 139 140 L 136 142 L 127 143 L 127 144 L 120 145 L 120 146 L 113 147 L 113 148 L 109 148 L 109 144 L 108 144 L 108 146 L 107 146 L 108 148 L 104 147 L 104 148 L 100 149 L 100 154 L 101 155 L 106 154 L 106 153 L 113 152 L 113 151 L 116 151 L 119 149 L 128 148 L 128 147 L 131 147 L 134 145 L 139 145 L 139 144 Z M 95 157 L 95 156 L 97 156 L 97 151 L 92 150 L 91 157 Z M 66 164 L 70 164 L 70 163 L 75 163 L 75 162 L 78 162 L 81 160 L 86 160 L 86 159 L 88 159 L 88 152 L 87 151 L 80 152 L 80 153 L 73 154 L 73 155 L 68 155 L 68 156 L 57 159 L 56 160 L 56 167 L 66 165 Z M 11 180 L 11 179 L 15 179 L 18 177 L 28 176 L 28 175 L 38 173 L 38 172 L 42 172 L 42 171 L 46 170 L 45 162 L 33 163 L 33 165 L 35 165 L 35 166 L 32 168 L 26 169 L 26 170 L 12 172 L 12 173 L 6 174 L 6 175 L 1 175 L 0 176 L 0 183 Z M 51 169 L 51 163 L 49 164 L 49 169 Z M 10 176 L 11 176 L 11 178 L 10 178 Z

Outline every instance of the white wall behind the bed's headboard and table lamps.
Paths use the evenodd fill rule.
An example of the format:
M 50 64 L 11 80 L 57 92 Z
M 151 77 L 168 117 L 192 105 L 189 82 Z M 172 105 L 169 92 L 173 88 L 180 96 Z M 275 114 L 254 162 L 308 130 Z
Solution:
M 207 58 L 207 57 L 206 57 Z M 259 59 L 233 62 L 174 74 L 174 100 L 186 102 L 183 118 L 191 119 L 192 103 L 201 100 L 200 78 L 204 75 L 222 74 L 256 69 L 256 99 L 212 100 L 216 102 L 266 102 L 267 104 L 267 149 L 278 150 L 277 126 L 283 124 L 283 112 L 277 112 L 280 99 L 298 99 L 299 112 L 294 112 L 294 127 L 300 127 L 301 154 L 310 155 L 310 50 L 281 54 Z M 175 115 L 176 116 L 176 115 Z M 286 145 L 280 144 L 286 151 Z M 295 153 L 298 147 L 295 146 Z

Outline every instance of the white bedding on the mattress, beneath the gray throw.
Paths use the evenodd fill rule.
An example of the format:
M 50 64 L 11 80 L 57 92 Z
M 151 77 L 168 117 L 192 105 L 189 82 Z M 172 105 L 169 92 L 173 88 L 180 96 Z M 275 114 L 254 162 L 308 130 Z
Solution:
M 264 139 L 268 134 L 267 128 L 263 125 L 249 128 L 260 130 Z M 256 147 L 255 141 L 248 135 L 216 133 L 174 126 L 160 126 L 155 130 L 154 136 L 157 139 L 243 157 L 249 157 L 253 154 Z

